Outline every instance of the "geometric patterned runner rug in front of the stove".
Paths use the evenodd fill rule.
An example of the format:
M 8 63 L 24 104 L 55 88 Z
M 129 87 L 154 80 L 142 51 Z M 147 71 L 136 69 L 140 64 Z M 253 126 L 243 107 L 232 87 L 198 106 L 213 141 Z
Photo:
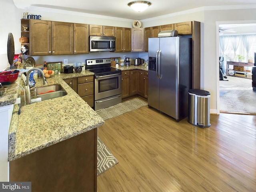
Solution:
M 147 102 L 140 100 L 139 98 L 135 98 L 132 100 L 128 100 L 114 106 L 110 106 L 108 108 L 97 110 L 97 114 L 101 116 L 104 120 L 116 117 L 125 112 L 129 112 L 135 109 L 138 109 L 142 106 L 148 105 Z

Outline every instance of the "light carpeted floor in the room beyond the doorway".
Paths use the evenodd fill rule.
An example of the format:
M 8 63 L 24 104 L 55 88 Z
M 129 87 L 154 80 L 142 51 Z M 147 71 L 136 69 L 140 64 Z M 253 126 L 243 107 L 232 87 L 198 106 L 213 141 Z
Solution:
M 228 76 L 220 81 L 220 112 L 256 114 L 256 91 L 252 80 Z

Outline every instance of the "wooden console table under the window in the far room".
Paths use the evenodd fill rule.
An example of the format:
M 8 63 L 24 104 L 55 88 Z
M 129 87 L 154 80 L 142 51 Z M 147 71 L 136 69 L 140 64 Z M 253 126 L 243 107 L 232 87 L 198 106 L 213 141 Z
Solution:
M 229 65 L 233 65 L 233 69 L 230 69 L 229 68 Z M 244 67 L 252 67 L 254 66 L 253 63 L 244 63 L 244 62 L 234 62 L 234 61 L 227 61 L 227 75 L 228 76 L 233 76 L 233 75 L 230 75 L 228 72 L 230 70 L 234 71 L 235 74 L 237 75 L 234 75 L 236 77 L 242 77 L 242 78 L 252 78 L 252 76 L 247 76 L 247 73 L 249 71 L 246 71 Z M 252 70 L 250 70 L 250 73 L 252 73 Z

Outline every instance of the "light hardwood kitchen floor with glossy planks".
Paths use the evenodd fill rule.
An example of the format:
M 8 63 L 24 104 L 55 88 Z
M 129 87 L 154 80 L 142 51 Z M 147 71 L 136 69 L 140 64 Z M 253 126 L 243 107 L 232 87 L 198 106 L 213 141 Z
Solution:
M 98 192 L 254 192 L 256 116 L 210 116 L 209 128 L 144 106 L 106 120 L 98 136 L 119 161 Z

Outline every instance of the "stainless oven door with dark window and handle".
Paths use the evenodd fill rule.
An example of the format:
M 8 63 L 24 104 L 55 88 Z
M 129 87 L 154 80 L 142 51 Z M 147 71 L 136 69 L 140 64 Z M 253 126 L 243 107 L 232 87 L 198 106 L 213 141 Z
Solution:
M 121 74 L 95 76 L 95 101 L 122 93 Z

